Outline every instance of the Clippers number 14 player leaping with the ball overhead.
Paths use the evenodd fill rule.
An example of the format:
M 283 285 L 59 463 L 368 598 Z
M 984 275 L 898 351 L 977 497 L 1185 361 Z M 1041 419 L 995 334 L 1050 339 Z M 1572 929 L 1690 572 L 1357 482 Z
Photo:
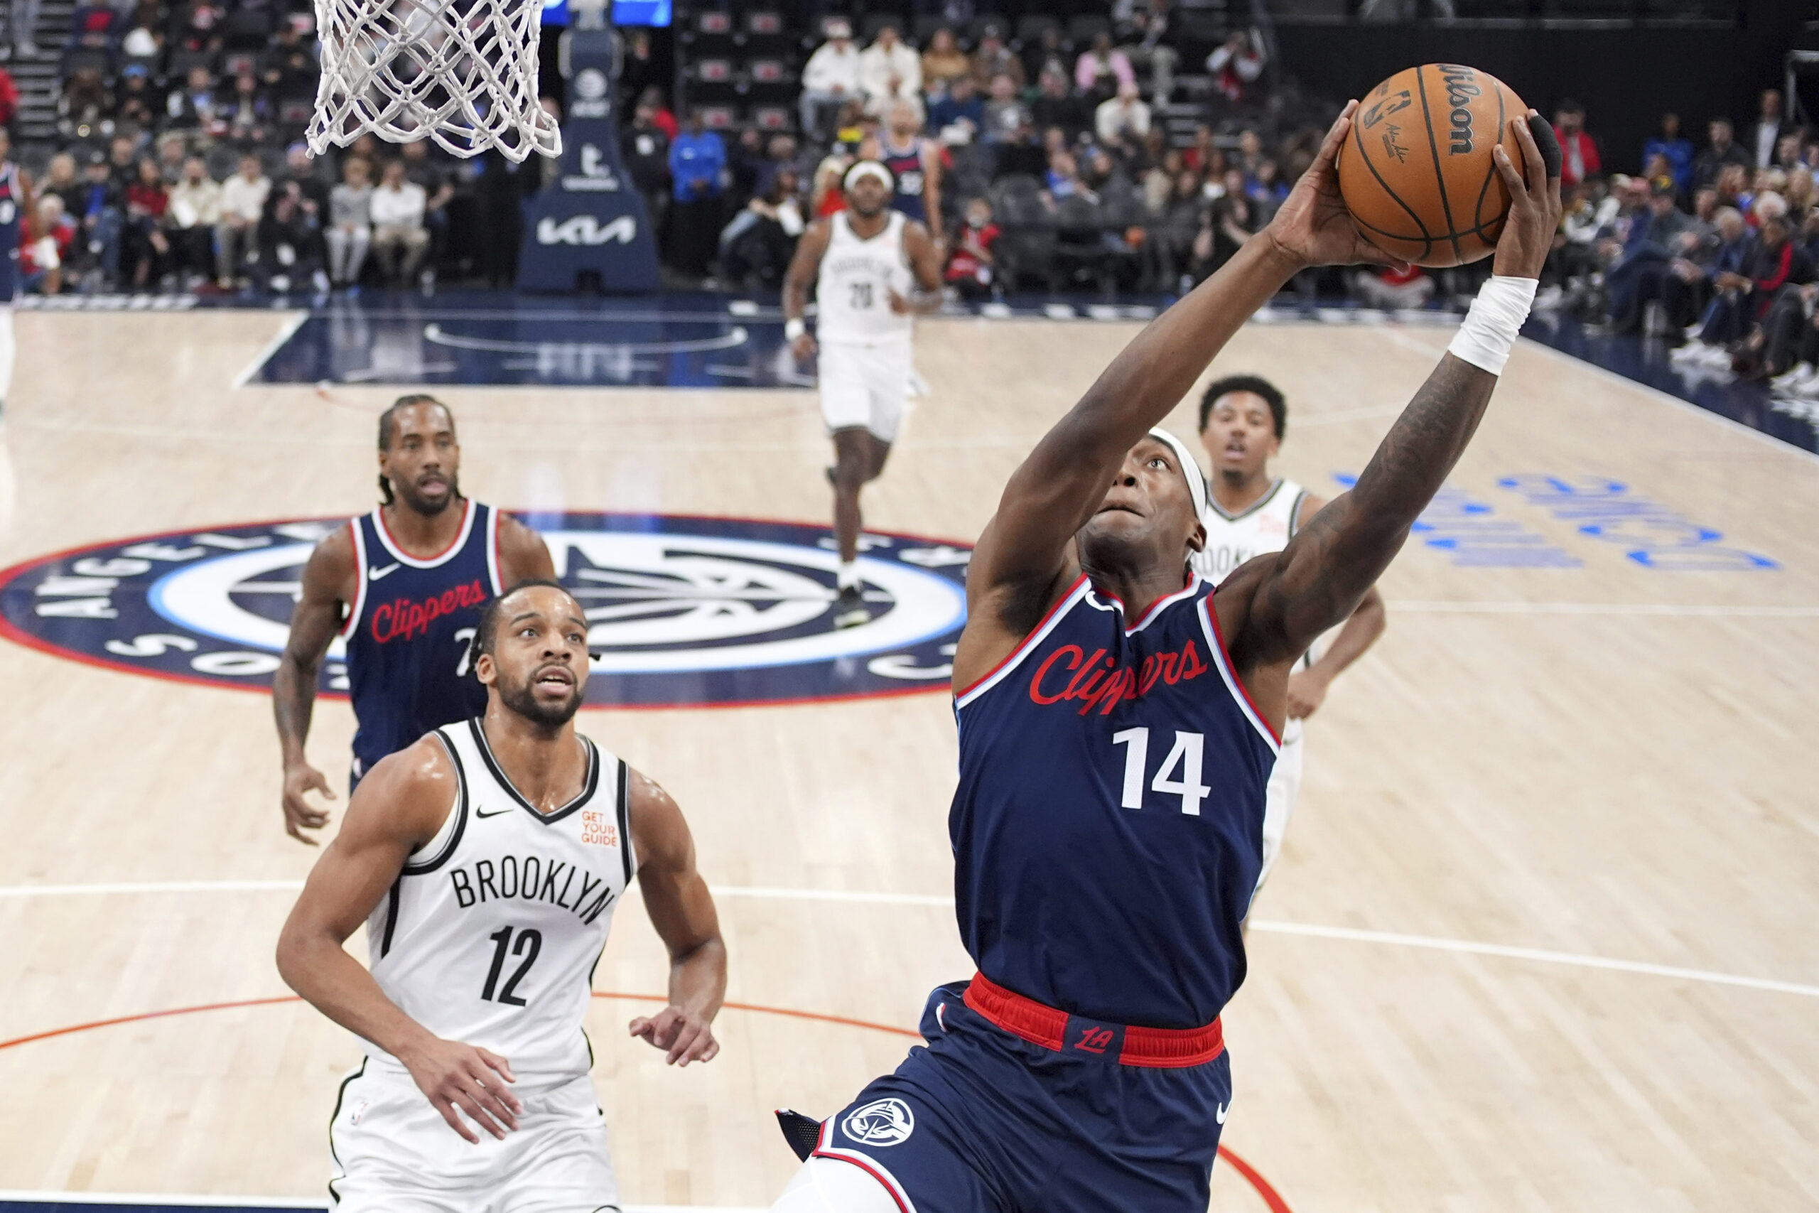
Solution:
M 1450 351 L 1357 487 L 1215 595 L 1188 567 L 1206 484 L 1153 427 L 1297 271 L 1393 264 L 1339 200 L 1353 109 L 1270 226 L 1150 324 L 1004 487 L 953 658 L 948 829 L 979 973 L 935 989 L 926 1048 L 819 1128 L 773 1211 L 1204 1213 L 1231 1102 L 1219 1015 L 1244 980 L 1290 671 L 1464 451 L 1561 215 L 1559 160 L 1512 118 L 1521 156 L 1497 156 L 1513 209 Z

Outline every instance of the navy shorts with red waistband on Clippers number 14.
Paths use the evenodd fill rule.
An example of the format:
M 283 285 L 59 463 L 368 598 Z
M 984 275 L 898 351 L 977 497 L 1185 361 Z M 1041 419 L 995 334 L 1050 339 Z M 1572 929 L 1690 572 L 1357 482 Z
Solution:
M 1211 1051 L 1202 1035 L 1191 1058 L 1133 1064 L 1141 1042 L 1126 1037 L 1142 1029 L 1064 1017 L 984 982 L 1066 1020 L 1037 1044 L 1026 1037 L 1039 1033 L 1013 1035 L 997 1026 L 1004 1017 L 968 1006 L 966 987 L 930 995 L 926 1048 L 826 1120 L 817 1157 L 868 1171 L 904 1213 L 1206 1213 L 1231 1102 L 1217 1024 L 1210 1060 L 1199 1060 Z

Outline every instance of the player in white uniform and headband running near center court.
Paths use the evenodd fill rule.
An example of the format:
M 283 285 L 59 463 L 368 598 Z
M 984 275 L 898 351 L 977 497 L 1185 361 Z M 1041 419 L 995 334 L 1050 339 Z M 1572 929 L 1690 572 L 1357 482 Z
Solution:
M 891 175 L 877 160 L 846 171 L 846 209 L 815 220 L 784 280 L 784 336 L 806 360 L 820 349 L 820 415 L 833 436 L 833 533 L 840 553 L 833 626 L 871 618 L 860 593 L 859 491 L 891 455 L 915 371 L 915 315 L 940 307 L 940 253 L 928 229 L 889 209 Z M 817 322 L 802 313 L 815 284 Z

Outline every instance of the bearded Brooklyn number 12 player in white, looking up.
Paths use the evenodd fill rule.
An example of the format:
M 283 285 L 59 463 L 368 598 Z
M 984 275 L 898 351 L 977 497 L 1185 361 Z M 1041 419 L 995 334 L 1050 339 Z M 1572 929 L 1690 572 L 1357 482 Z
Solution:
M 726 946 L 669 795 L 575 733 L 588 622 L 533 580 L 475 637 L 484 715 L 360 782 L 278 938 L 278 973 L 360 1037 L 329 1120 L 340 1213 L 618 1208 L 582 1029 L 613 911 L 638 877 L 669 1006 L 631 1035 L 713 1060 Z M 371 971 L 342 947 L 366 922 Z

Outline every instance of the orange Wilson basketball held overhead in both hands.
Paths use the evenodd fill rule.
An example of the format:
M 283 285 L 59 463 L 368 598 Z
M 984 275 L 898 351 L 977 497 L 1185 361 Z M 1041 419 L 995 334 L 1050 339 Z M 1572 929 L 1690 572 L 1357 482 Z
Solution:
M 1490 256 L 1510 191 L 1490 149 L 1523 165 L 1510 118 L 1528 113 L 1497 76 L 1461 64 L 1399 71 L 1364 95 L 1339 149 L 1339 191 L 1359 233 L 1417 266 Z

